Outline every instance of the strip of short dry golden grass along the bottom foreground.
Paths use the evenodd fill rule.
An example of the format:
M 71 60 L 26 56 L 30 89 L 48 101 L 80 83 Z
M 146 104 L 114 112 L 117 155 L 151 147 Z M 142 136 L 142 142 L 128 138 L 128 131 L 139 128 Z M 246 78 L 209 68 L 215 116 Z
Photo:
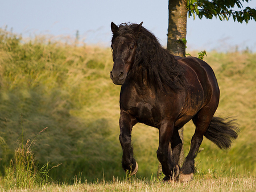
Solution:
M 189 183 L 163 183 L 160 181 L 131 180 L 110 182 L 75 183 L 73 185 L 44 185 L 33 191 L 255 191 L 254 177 L 195 178 Z M 27 191 L 26 189 L 10 191 Z

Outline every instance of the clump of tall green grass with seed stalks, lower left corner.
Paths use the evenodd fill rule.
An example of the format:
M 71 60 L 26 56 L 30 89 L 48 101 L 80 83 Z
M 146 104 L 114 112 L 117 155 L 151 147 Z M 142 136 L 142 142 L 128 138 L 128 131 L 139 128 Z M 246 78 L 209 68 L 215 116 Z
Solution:
M 38 135 L 46 128 L 40 131 Z M 19 147 L 15 149 L 14 158 L 10 161 L 10 165 L 5 168 L 5 177 L 2 181 L 2 186 L 6 190 L 33 189 L 36 186 L 45 185 L 51 179 L 48 163 L 39 168 L 38 161 L 32 152 L 35 139 L 36 137 L 32 141 L 27 140 L 25 145 L 22 141 Z

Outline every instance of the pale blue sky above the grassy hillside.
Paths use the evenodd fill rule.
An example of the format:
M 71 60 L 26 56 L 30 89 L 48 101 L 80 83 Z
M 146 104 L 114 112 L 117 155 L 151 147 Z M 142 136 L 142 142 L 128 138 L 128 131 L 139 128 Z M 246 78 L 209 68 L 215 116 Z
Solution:
M 88 44 L 110 45 L 110 23 L 141 23 L 167 44 L 168 0 L 0 0 L 0 27 L 24 37 L 35 35 L 75 37 Z M 255 8 L 256 1 L 243 3 Z M 256 52 L 256 23 L 188 18 L 188 50 L 232 51 L 238 47 Z

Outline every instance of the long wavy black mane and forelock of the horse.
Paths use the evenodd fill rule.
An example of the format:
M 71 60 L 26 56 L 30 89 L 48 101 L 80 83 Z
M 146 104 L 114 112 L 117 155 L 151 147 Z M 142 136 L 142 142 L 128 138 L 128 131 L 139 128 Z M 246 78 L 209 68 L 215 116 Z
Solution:
M 113 39 L 124 34 L 133 35 L 137 39 L 135 62 L 131 73 L 146 76 L 148 85 L 156 89 L 170 87 L 176 92 L 183 90 L 186 85 L 184 68 L 146 28 L 141 27 L 138 34 L 135 34 L 133 29 L 137 26 L 138 24 L 122 23 L 117 34 L 113 35 Z

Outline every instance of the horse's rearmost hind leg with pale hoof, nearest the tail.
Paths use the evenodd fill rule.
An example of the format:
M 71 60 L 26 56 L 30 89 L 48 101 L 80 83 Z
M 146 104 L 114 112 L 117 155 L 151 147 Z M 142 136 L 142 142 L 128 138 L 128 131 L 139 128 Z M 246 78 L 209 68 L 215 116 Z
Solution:
M 191 148 L 180 171 L 179 180 L 181 182 L 187 182 L 193 179 L 193 174 L 195 173 L 194 159 L 197 155 L 197 151 L 199 151 L 199 147 L 203 141 L 204 133 L 207 131 L 212 117 L 212 112 L 209 112 L 208 109 L 202 109 L 193 118 L 193 123 L 196 125 L 196 131 L 191 140 Z

